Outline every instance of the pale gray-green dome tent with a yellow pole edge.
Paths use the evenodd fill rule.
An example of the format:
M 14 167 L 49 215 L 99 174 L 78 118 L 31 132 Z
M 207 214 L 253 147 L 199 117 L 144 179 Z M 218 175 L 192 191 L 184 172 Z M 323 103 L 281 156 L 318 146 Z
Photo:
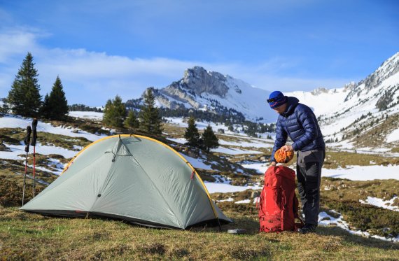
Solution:
M 155 139 L 129 134 L 107 136 L 85 147 L 61 176 L 21 210 L 119 218 L 177 229 L 216 220 L 231 222 L 176 150 Z

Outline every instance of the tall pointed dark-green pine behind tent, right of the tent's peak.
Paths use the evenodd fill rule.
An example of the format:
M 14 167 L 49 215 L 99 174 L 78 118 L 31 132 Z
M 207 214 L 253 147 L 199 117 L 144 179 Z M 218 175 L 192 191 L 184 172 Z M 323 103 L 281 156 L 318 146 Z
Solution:
M 151 88 L 144 94 L 144 105 L 141 106 L 139 118 L 141 130 L 158 136 L 162 134 L 162 118 L 155 107 L 155 96 Z

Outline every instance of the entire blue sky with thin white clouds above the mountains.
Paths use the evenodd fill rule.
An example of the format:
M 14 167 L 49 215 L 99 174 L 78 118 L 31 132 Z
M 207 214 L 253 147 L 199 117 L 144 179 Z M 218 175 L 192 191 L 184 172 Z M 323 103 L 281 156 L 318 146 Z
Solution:
M 137 98 L 204 66 L 265 90 L 342 87 L 399 51 L 399 1 L 0 0 L 0 97 L 27 52 L 41 94 Z

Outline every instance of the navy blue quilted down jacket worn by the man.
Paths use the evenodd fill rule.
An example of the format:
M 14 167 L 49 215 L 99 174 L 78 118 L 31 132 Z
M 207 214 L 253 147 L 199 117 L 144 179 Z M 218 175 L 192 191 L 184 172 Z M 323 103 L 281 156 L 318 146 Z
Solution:
M 286 145 L 288 136 L 293 141 L 295 151 L 325 150 L 323 134 L 318 127 L 316 116 L 311 108 L 300 104 L 295 97 L 287 97 L 286 111 L 279 114 L 276 124 L 276 141 L 271 161 L 276 150 Z

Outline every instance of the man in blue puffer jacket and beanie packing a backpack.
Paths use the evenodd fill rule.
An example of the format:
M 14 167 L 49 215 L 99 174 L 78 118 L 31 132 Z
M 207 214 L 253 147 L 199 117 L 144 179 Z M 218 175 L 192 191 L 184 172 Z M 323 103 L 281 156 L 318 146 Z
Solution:
M 276 150 L 297 151 L 297 181 L 304 227 L 298 232 L 315 232 L 318 224 L 318 206 L 320 203 L 321 167 L 325 158 L 325 143 L 316 116 L 311 108 L 300 104 L 295 97 L 286 97 L 275 91 L 267 99 L 270 108 L 279 113 L 276 124 L 276 141 L 270 166 L 276 165 Z M 286 145 L 288 136 L 292 146 Z

